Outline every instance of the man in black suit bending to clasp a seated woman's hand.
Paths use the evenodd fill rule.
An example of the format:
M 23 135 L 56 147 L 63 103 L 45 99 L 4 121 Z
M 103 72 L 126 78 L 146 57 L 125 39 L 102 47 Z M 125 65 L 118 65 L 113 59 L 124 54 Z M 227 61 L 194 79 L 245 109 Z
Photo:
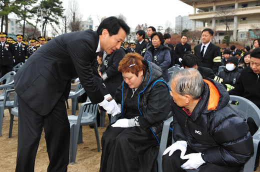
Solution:
M 16 171 L 34 171 L 42 131 L 49 157 L 47 171 L 67 171 L 69 122 L 65 100 L 70 81 L 79 77 L 93 104 L 107 113 L 120 112 L 108 94 L 93 61 L 100 49 L 107 54 L 120 47 L 128 25 L 114 16 L 104 19 L 97 31 L 61 34 L 37 49 L 14 76 L 18 95 L 18 148 Z

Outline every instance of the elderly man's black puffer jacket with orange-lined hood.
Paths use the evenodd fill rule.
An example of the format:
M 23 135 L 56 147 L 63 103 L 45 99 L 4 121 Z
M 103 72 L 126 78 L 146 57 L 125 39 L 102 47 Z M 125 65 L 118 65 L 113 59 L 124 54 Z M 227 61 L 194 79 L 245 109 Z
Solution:
M 204 79 L 204 91 L 190 116 L 172 101 L 174 140 L 186 140 L 206 162 L 242 165 L 253 154 L 244 119 L 228 105 L 229 95 L 217 81 Z

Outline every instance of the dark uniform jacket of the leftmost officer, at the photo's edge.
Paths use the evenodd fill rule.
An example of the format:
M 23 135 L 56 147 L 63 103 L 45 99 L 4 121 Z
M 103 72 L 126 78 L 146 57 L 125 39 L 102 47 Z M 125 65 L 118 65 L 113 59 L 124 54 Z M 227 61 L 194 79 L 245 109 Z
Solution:
M 0 42 L 0 65 L 8 65 L 13 63 L 14 48 L 12 43 L 5 41 L 2 46 Z

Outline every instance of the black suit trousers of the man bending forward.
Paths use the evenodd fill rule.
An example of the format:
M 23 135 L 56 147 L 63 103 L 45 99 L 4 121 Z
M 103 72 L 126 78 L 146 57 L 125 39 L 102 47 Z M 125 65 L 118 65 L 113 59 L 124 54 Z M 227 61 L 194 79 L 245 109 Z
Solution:
M 15 171 L 34 171 L 42 127 L 49 157 L 47 171 L 67 171 L 70 127 L 64 95 L 53 110 L 44 116 L 34 112 L 19 96 L 18 109 L 18 148 Z

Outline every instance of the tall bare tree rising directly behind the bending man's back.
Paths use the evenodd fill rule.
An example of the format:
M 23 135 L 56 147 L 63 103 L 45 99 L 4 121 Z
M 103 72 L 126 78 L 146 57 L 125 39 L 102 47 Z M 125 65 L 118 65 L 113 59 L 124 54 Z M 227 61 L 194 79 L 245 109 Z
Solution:
M 69 18 L 69 29 L 71 31 L 78 31 L 81 30 L 81 20 L 80 18 L 82 18 L 81 14 L 78 12 L 78 3 L 76 0 L 72 0 L 69 2 L 69 14 L 68 16 L 70 16 Z

